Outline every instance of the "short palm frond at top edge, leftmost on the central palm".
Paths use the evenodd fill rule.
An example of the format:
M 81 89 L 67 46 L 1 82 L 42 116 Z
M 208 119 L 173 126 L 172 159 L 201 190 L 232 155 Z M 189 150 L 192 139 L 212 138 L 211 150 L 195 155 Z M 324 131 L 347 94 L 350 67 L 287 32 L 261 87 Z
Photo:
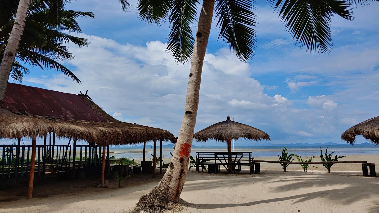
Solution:
M 170 0 L 139 0 L 137 5 L 139 18 L 149 24 L 159 25 L 166 19 L 171 9 Z

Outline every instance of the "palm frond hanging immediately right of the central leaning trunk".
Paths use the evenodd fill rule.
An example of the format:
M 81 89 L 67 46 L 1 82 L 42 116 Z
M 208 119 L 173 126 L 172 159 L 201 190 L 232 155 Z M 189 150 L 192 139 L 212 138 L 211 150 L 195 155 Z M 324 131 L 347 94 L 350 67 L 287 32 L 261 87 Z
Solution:
M 255 9 L 251 0 L 218 0 L 215 8 L 220 28 L 218 39 L 226 42 L 241 61 L 254 55 L 256 34 Z

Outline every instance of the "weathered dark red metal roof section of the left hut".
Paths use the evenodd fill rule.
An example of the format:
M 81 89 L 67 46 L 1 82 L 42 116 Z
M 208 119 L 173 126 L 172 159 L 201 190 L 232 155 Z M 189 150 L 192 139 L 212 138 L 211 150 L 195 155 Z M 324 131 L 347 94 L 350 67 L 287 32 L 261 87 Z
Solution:
M 83 97 L 64 92 L 8 83 L 3 107 L 11 112 L 71 120 L 107 121 Z

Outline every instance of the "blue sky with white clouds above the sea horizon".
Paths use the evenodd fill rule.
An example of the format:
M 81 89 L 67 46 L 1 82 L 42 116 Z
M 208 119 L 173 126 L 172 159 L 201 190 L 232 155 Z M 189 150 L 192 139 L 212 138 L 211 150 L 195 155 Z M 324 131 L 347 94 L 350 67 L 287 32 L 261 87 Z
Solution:
M 164 51 L 168 23 L 147 25 L 138 19 L 137 3 L 130 3 L 128 13 L 116 1 L 78 0 L 68 5 L 96 14 L 79 22 L 80 36 L 91 46 L 79 49 L 69 44 L 75 59 L 62 62 L 82 84 L 38 68 L 31 68 L 23 84 L 74 94 L 88 89 L 89 96 L 117 119 L 164 128 L 177 136 L 189 65 L 179 66 Z M 334 17 L 333 50 L 315 56 L 297 47 L 277 13 L 259 2 L 257 48 L 248 64 L 217 41 L 214 20 L 195 132 L 229 114 L 267 132 L 273 144 L 344 143 L 343 131 L 379 114 L 379 3 L 354 12 L 354 21 Z M 357 142 L 365 140 L 360 137 Z M 236 146 L 251 143 L 256 142 L 241 140 Z

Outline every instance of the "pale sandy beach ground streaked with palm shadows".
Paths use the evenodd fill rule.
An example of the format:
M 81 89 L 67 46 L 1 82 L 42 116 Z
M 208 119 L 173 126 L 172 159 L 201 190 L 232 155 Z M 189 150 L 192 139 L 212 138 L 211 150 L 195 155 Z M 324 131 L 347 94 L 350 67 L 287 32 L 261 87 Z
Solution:
M 343 160 L 379 164 L 379 155 Z M 360 164 L 336 164 L 330 174 L 321 165 L 309 172 L 299 165 L 283 172 L 274 165 L 262 164 L 261 174 L 253 175 L 191 169 L 175 212 L 379 212 L 379 178 L 363 177 Z M 128 212 L 162 176 L 136 174 L 122 182 L 122 188 L 116 180 L 110 180 L 108 188 L 97 188 L 97 179 L 35 185 L 31 200 L 25 199 L 26 188 L 1 191 L 0 212 Z

